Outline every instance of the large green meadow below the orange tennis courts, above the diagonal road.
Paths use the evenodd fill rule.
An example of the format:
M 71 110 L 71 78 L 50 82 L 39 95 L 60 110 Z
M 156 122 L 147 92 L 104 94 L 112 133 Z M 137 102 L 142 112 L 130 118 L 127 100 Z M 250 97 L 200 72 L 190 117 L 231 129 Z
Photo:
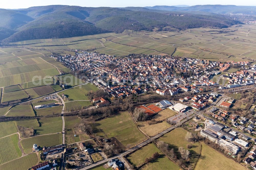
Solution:
M 137 129 L 128 112 L 97 121 L 95 125 L 103 131 L 103 134 L 99 135 L 106 135 L 108 138 L 115 137 L 124 146 L 134 145 L 146 139 L 143 133 Z

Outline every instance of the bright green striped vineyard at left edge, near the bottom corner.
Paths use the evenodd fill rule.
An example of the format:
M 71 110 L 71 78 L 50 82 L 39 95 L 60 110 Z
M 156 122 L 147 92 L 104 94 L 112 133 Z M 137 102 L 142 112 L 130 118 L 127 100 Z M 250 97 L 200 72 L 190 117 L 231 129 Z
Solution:
M 18 141 L 18 134 L 0 138 L 0 164 L 22 156 L 22 153 L 19 149 Z

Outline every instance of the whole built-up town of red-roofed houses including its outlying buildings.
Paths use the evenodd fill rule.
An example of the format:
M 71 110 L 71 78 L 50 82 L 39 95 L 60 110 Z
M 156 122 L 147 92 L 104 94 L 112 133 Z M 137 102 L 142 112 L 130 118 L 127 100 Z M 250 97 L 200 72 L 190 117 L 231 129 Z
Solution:
M 225 95 L 256 86 L 256 66 L 250 62 L 220 63 L 154 55 L 129 55 L 117 58 L 85 51 L 76 51 L 75 56 L 51 57 L 74 72 L 79 70 L 86 73 L 86 79 L 111 98 L 124 99 L 139 94 L 159 96 L 163 100 L 136 107 L 143 108 L 149 116 L 164 109 L 172 110 L 176 115 L 169 119 L 177 124 L 183 119 L 194 117 L 201 137 L 209 139 L 233 157 L 236 157 L 239 151 L 246 151 L 243 162 L 256 169 L 256 145 L 249 142 L 254 141 L 256 137 L 256 119 L 235 114 L 230 108 L 236 100 Z M 228 72 L 231 68 L 236 70 Z M 61 97 L 67 98 L 65 94 Z M 92 103 L 95 108 L 110 105 L 110 101 L 103 97 L 93 99 Z M 58 103 L 38 105 L 35 109 L 56 104 Z M 205 123 L 205 128 L 198 126 L 199 121 Z M 108 139 L 97 140 L 97 143 L 108 142 Z M 49 156 L 50 160 L 51 155 L 61 153 L 62 146 L 40 148 L 34 144 L 32 150 L 42 150 L 42 155 Z M 82 142 L 67 146 L 64 151 L 67 155 L 66 163 L 72 164 L 70 168 L 74 169 L 106 159 L 98 147 Z M 41 170 L 57 164 L 58 162 L 46 161 L 32 169 Z M 104 166 L 118 170 L 124 169 L 125 164 L 116 158 L 109 160 Z

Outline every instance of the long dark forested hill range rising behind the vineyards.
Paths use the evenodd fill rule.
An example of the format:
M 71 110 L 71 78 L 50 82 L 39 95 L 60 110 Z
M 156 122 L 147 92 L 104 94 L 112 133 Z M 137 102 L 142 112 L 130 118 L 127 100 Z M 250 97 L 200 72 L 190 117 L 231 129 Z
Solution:
M 198 12 L 191 14 L 141 7 L 92 8 L 66 5 L 0 9 L 0 17 L 0 40 L 3 44 L 28 39 L 120 33 L 125 29 L 151 31 L 164 26 L 178 29 L 223 28 L 240 23 L 227 16 L 210 13 L 201 15 Z

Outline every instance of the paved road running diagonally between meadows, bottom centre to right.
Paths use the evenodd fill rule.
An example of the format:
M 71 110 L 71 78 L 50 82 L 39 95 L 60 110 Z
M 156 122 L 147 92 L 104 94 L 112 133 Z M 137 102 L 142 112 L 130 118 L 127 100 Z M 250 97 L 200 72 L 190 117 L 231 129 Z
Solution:
M 187 121 L 188 121 L 189 119 L 191 119 L 192 117 L 194 117 L 194 116 L 187 117 L 186 119 L 183 119 L 182 121 L 180 121 L 180 123 L 182 124 L 182 123 L 184 123 L 184 122 L 187 122 Z M 168 133 L 169 131 L 175 129 L 176 127 L 177 127 L 177 125 L 174 125 L 174 126 L 168 128 L 168 129 L 162 131 L 161 133 L 158 133 L 156 136 L 153 136 L 153 137 L 151 137 L 151 138 L 145 140 L 144 142 L 137 144 L 135 147 L 133 147 L 133 148 L 131 148 L 131 149 L 129 149 L 129 150 L 123 152 L 123 153 L 120 153 L 120 154 L 118 154 L 118 155 L 116 155 L 116 156 L 113 156 L 113 157 L 110 157 L 110 158 L 108 158 L 108 159 L 99 161 L 99 162 L 97 162 L 97 163 L 95 163 L 95 164 L 86 166 L 86 167 L 82 168 L 82 170 L 90 169 L 90 168 L 95 167 L 95 166 L 98 166 L 98 165 L 100 165 L 100 164 L 102 164 L 102 163 L 108 162 L 108 161 L 111 160 L 111 159 L 115 159 L 115 158 L 118 158 L 118 157 L 122 157 L 122 156 L 124 156 L 124 155 L 126 155 L 126 154 L 129 154 L 129 153 L 135 151 L 135 150 L 138 150 L 138 149 L 142 148 L 143 146 L 147 145 L 148 143 L 152 142 L 152 140 L 158 139 L 159 137 L 161 137 L 161 136 L 163 136 L 165 133 Z

